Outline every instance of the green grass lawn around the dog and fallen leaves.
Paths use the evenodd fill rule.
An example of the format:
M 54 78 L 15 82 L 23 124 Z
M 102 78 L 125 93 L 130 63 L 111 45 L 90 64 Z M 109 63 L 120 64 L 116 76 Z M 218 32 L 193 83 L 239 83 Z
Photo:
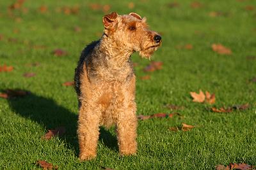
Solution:
M 202 8 L 190 7 L 191 0 L 177 1 L 98 1 L 110 4 L 119 14 L 134 11 L 146 16 L 150 28 L 161 32 L 163 45 L 152 60 L 163 61 L 163 69 L 140 80 L 143 67 L 149 63 L 138 54 L 132 56 L 135 68 L 137 114 L 170 113 L 164 104 L 184 106 L 184 118 L 152 118 L 139 121 L 138 154 L 121 157 L 116 146 L 115 130 L 101 129 L 97 159 L 79 162 L 76 126 L 77 99 L 72 87 L 74 68 L 81 50 L 102 32 L 101 10 L 89 8 L 88 1 L 32 1 L 8 15 L 14 1 L 0 2 L 0 66 L 13 66 L 10 73 L 0 73 L 0 90 L 24 89 L 31 92 L 17 99 L 0 98 L 0 169 L 40 169 L 36 160 L 47 160 L 60 169 L 214 169 L 218 164 L 245 162 L 256 165 L 256 2 L 200 1 Z M 93 2 L 93 1 L 92 1 Z M 44 4 L 47 13 L 38 12 Z M 77 15 L 56 13 L 57 7 L 79 5 Z M 244 10 L 246 6 L 254 10 Z M 220 11 L 225 16 L 210 17 Z M 20 17 L 21 22 L 15 21 Z M 17 19 L 16 19 L 17 20 Z M 74 32 L 74 26 L 81 32 Z M 15 31 L 16 30 L 16 31 Z M 17 32 L 18 30 L 18 32 Z M 17 32 L 17 33 L 15 33 Z M 8 39 L 16 39 L 16 42 Z M 212 52 L 212 43 L 221 43 L 232 55 Z M 177 45 L 193 45 L 193 49 L 177 49 Z M 45 48 L 35 49 L 32 46 Z M 61 48 L 67 56 L 55 57 L 52 50 Z M 39 62 L 40 66 L 27 64 Z M 36 76 L 25 78 L 24 73 Z M 232 113 L 212 113 L 207 104 L 193 103 L 189 92 L 199 89 L 216 94 L 215 106 L 249 103 L 250 108 Z M 189 132 L 171 132 L 169 127 L 196 125 Z M 58 126 L 65 126 L 65 136 L 49 141 L 41 136 Z

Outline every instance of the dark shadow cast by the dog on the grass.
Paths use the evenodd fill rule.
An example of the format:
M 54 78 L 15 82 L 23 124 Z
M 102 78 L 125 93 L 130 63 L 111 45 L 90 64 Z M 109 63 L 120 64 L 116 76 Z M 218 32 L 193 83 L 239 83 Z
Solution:
M 15 113 L 37 122 L 42 125 L 42 127 L 45 127 L 45 129 L 55 129 L 61 126 L 65 127 L 65 135 L 60 136 L 60 138 L 74 148 L 78 155 L 77 115 L 75 113 L 58 105 L 52 99 L 36 96 L 36 94 L 32 92 L 24 97 L 11 97 L 8 99 L 8 103 Z M 99 140 L 109 149 L 116 151 L 116 136 L 113 136 L 113 134 L 102 127 L 100 127 Z

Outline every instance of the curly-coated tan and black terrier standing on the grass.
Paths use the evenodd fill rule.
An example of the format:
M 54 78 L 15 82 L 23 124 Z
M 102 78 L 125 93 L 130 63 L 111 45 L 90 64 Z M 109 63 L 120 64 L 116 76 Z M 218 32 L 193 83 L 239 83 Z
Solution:
M 150 31 L 146 18 L 136 13 L 103 17 L 104 33 L 84 48 L 74 77 L 79 101 L 79 159 L 97 155 L 99 126 L 116 125 L 121 155 L 137 150 L 135 75 L 131 54 L 150 56 L 161 45 L 161 36 Z

